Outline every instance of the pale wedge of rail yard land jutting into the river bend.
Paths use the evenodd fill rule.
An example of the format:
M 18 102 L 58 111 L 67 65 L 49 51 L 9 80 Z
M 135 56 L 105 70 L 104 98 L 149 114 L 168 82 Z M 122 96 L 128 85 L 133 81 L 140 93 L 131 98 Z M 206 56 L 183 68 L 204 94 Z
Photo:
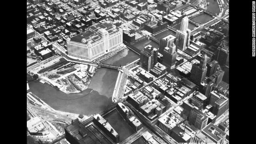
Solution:
M 59 59 L 43 64 L 40 68 L 32 69 L 30 74 L 38 74 L 39 79 L 57 88 L 66 94 L 77 94 L 88 88 L 94 73 L 97 71 L 95 66 L 66 62 L 58 69 L 40 73 L 43 68 L 52 66 Z

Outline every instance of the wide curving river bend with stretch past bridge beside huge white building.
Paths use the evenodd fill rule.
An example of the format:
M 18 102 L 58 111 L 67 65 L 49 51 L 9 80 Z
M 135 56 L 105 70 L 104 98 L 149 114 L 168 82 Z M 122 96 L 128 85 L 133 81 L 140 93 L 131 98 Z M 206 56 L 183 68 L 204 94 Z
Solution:
M 139 56 L 129 49 L 104 60 L 105 63 L 125 65 L 137 60 Z M 118 76 L 117 70 L 99 68 L 92 77 L 88 89 L 78 94 L 65 94 L 64 92 L 39 81 L 29 82 L 30 91 L 41 98 L 55 110 L 75 114 L 97 114 L 112 104 L 112 94 Z

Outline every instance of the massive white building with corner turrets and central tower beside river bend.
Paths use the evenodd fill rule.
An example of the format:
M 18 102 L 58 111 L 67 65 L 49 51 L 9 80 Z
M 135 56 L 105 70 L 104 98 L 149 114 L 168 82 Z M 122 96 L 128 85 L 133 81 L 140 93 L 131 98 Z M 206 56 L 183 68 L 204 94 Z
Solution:
M 68 55 L 88 61 L 125 48 L 123 31 L 110 22 L 96 24 L 89 30 L 67 39 Z

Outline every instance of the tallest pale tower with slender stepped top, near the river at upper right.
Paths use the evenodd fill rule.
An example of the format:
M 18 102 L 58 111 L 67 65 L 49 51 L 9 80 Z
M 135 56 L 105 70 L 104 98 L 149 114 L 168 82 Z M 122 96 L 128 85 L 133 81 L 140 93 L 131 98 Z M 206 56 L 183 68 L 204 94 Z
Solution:
M 186 50 L 186 46 L 189 46 L 190 41 L 190 30 L 188 29 L 188 17 L 184 17 L 182 19 L 180 30 L 176 32 L 176 38 L 178 38 L 176 42 L 176 46 L 179 50 Z

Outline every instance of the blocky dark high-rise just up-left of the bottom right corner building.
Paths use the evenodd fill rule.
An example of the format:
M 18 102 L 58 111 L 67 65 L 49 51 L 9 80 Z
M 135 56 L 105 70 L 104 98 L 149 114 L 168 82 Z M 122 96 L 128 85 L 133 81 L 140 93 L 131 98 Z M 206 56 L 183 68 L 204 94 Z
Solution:
M 208 117 L 200 110 L 192 108 L 189 115 L 189 121 L 192 122 L 196 128 L 202 130 L 207 125 Z

